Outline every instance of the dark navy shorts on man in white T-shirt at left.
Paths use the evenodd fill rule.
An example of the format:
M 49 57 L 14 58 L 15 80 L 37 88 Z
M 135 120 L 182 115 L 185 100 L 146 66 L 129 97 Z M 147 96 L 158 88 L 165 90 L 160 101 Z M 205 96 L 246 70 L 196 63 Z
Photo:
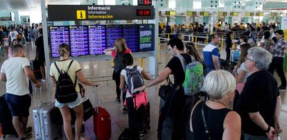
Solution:
M 6 94 L 5 99 L 8 103 L 12 116 L 29 116 L 31 97 L 28 94 L 24 96 Z

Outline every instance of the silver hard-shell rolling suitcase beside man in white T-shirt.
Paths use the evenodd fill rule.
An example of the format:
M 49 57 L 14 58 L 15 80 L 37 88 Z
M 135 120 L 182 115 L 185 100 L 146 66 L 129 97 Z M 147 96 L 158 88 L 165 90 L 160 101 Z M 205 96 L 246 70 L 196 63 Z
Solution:
M 53 112 L 55 112 L 55 103 L 42 103 L 42 89 L 40 88 L 40 107 L 33 109 L 33 121 L 35 130 L 35 139 L 53 140 L 61 136 L 58 125 L 55 123 Z

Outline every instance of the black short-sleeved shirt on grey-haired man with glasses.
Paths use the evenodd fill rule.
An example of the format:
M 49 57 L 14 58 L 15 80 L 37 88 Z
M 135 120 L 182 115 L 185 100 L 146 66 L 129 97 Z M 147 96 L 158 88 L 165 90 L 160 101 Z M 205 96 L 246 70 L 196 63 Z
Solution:
M 236 105 L 244 133 L 266 136 L 266 132 L 250 119 L 248 113 L 259 112 L 264 121 L 274 127 L 277 96 L 280 95 L 277 86 L 277 80 L 268 71 L 257 71 L 247 78 Z

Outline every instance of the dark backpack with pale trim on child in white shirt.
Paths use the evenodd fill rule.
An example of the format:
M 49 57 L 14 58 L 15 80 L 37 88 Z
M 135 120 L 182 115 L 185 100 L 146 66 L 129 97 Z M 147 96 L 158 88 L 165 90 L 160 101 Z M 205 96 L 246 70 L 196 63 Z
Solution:
M 133 93 L 134 89 L 137 89 L 138 87 L 142 87 L 144 85 L 143 77 L 141 76 L 141 73 L 139 73 L 137 66 L 134 66 L 132 69 L 125 68 L 125 71 L 127 73 L 128 80 L 126 81 L 126 85 L 128 86 L 130 94 L 139 94 L 140 91 Z

